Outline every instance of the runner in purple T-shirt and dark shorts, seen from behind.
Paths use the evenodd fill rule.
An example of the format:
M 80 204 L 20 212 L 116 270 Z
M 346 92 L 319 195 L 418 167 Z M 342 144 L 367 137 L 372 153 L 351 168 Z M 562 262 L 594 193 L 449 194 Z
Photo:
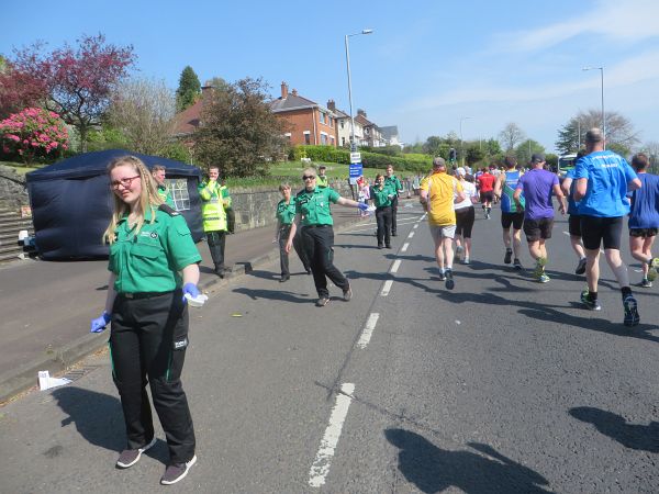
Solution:
M 513 200 L 522 209 L 522 192 L 526 199 L 524 207 L 524 233 L 528 243 L 530 257 L 536 261 L 534 277 L 540 283 L 549 281 L 545 272 L 547 266 L 547 245 L 554 228 L 554 203 L 551 193 L 560 202 L 560 212 L 566 214 L 566 200 L 558 184 L 558 177 L 544 169 L 545 155 L 534 154 L 530 157 L 532 169 L 517 181 Z

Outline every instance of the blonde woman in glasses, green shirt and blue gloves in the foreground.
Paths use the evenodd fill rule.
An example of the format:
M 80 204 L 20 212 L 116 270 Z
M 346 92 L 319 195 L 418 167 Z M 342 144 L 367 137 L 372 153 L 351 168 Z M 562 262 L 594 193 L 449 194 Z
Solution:
M 169 447 L 160 483 L 174 484 L 197 461 L 180 375 L 188 347 L 186 296 L 199 296 L 201 256 L 186 221 L 163 203 L 138 158 L 118 158 L 108 173 L 114 192 L 114 213 L 103 236 L 110 244 L 110 281 L 105 311 L 91 322 L 91 332 L 112 323 L 112 378 L 127 435 L 116 467 L 132 467 L 156 442 L 148 382 Z

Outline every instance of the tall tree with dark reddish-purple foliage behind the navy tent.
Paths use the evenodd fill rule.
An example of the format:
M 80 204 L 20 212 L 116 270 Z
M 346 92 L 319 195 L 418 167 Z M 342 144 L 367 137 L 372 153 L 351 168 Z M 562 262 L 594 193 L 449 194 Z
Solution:
M 85 35 L 77 44 L 45 55 L 35 44 L 16 52 L 11 64 L 16 74 L 45 87 L 43 106 L 75 126 L 87 150 L 87 134 L 101 124 L 112 90 L 126 77 L 135 56 L 132 46 L 107 44 L 102 34 Z

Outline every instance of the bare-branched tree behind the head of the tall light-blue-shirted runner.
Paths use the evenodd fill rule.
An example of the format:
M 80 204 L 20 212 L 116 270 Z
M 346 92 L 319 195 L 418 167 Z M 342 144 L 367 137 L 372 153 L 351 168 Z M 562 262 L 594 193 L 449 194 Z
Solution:
M 589 128 L 601 126 L 601 111 L 580 111 L 558 131 L 556 148 L 561 154 L 577 153 L 583 145 Z M 638 134 L 634 132 L 634 125 L 628 119 L 618 112 L 606 112 L 606 147 L 614 146 L 616 149 L 626 149 L 629 153 L 638 142 Z

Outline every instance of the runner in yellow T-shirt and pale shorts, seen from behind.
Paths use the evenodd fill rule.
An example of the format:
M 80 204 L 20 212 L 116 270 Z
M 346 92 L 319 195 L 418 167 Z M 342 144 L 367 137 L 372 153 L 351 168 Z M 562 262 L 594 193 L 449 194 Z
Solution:
M 439 280 L 453 290 L 453 239 L 456 233 L 454 203 L 465 200 L 462 186 L 446 173 L 444 158 L 433 159 L 433 173 L 421 183 L 420 202 L 428 213 L 428 225 L 435 243 L 435 258 L 439 266 Z

